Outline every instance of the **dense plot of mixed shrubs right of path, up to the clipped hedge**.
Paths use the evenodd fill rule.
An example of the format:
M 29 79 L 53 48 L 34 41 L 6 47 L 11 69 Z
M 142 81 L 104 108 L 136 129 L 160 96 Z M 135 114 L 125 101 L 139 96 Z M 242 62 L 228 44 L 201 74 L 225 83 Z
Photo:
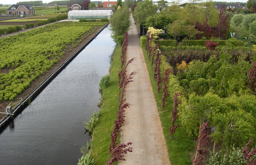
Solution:
M 256 47 L 244 47 L 237 39 L 189 42 L 190 46 L 186 40 L 186 46 L 177 46 L 175 40 L 141 38 L 149 68 L 154 68 L 155 97 L 161 99 L 158 106 L 169 154 L 182 154 L 177 150 L 187 136 L 198 139 L 190 157 L 182 154 L 191 163 L 255 161 L 250 148 L 256 144 Z M 177 160 L 171 163 L 188 164 Z

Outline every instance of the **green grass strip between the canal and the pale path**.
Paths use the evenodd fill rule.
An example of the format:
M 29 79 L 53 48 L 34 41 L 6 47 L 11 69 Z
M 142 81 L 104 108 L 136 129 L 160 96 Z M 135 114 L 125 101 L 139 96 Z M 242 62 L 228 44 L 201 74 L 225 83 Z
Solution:
M 92 136 L 92 155 L 96 165 L 104 165 L 110 160 L 109 145 L 111 142 L 110 133 L 114 129 L 116 112 L 119 104 L 118 71 L 121 67 L 121 46 L 116 46 L 112 56 L 110 68 L 110 86 L 103 93 L 103 105 L 100 117 Z

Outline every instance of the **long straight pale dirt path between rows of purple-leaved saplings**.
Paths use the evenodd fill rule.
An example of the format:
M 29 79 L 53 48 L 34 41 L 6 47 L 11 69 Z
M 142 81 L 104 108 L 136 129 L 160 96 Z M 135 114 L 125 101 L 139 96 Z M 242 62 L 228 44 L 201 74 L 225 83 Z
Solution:
M 131 17 L 131 29 L 128 32 L 127 60 L 136 60 L 128 65 L 127 74 L 136 71 L 134 82 L 125 88 L 124 97 L 127 103 L 125 122 L 121 128 L 121 143 L 132 142 L 133 152 L 127 153 L 126 161 L 119 165 L 170 165 L 166 142 L 163 136 L 157 104 L 152 91 L 146 68 L 140 38 L 134 19 Z

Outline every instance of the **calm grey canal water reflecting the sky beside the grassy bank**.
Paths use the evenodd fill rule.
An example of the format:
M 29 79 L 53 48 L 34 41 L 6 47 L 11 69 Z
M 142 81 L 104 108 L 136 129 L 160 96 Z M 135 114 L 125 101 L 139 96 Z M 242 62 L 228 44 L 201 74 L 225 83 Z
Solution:
M 0 134 L 0 165 L 76 165 L 115 43 L 106 27 Z

